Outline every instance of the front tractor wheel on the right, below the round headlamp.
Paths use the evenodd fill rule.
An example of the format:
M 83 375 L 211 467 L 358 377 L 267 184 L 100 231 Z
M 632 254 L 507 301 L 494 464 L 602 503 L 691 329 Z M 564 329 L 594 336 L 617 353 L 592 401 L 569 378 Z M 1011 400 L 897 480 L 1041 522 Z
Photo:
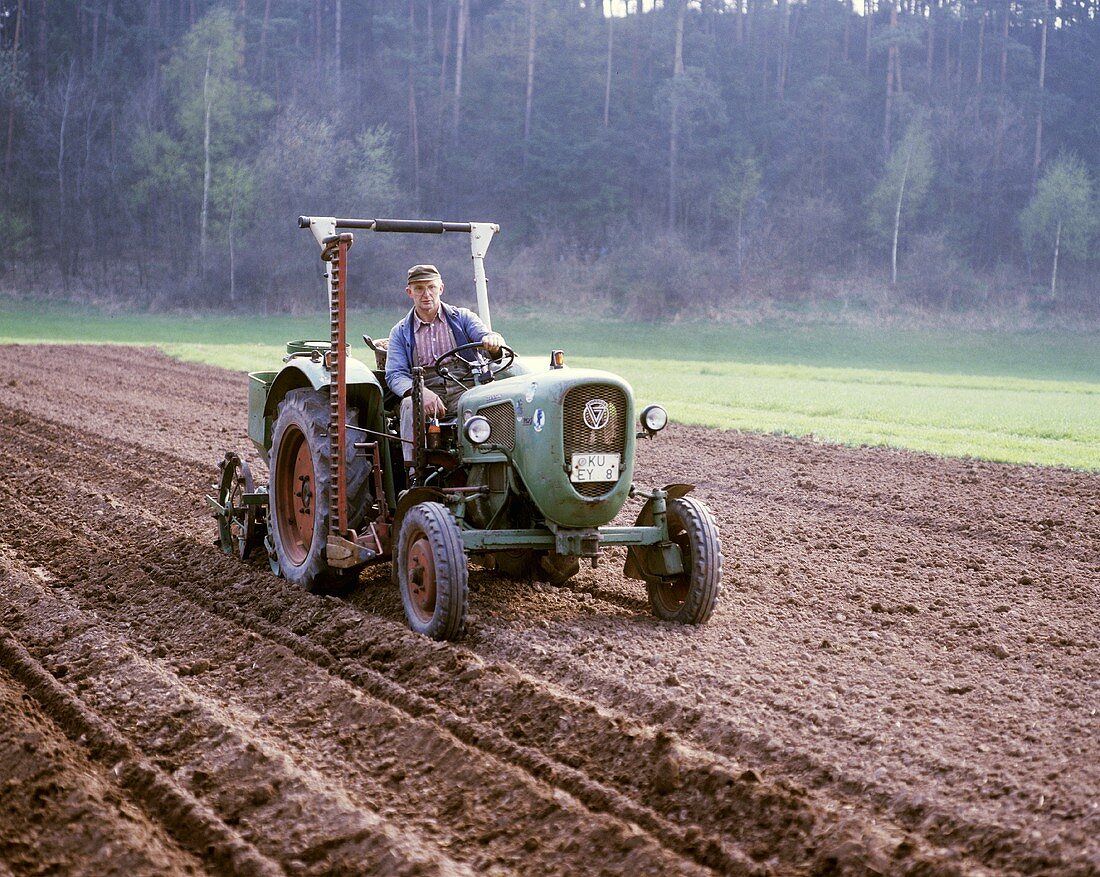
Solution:
M 704 624 L 722 590 L 722 542 L 711 509 L 688 497 L 668 505 L 669 539 L 680 546 L 684 571 L 647 585 L 653 614 L 666 622 Z

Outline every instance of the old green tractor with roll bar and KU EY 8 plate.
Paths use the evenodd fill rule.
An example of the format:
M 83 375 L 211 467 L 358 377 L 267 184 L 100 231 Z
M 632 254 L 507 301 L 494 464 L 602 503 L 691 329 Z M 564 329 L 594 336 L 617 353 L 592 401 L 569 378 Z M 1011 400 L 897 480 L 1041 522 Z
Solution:
M 447 373 L 449 360 L 468 359 L 457 415 L 426 421 L 424 373 L 415 369 L 420 416 L 413 418 L 414 465 L 404 464 L 384 351 L 376 349 L 376 368 L 349 355 L 352 230 L 468 234 L 477 311 L 491 328 L 484 259 L 497 226 L 333 217 L 299 217 L 298 224 L 321 248 L 330 338 L 292 341 L 282 369 L 249 375 L 249 437 L 270 484 L 257 489 L 241 457 L 226 453 L 217 495 L 207 500 L 227 553 L 265 548 L 274 572 L 315 592 L 350 588 L 363 567 L 388 561 L 409 626 L 454 639 L 465 626 L 470 558 L 560 585 L 581 559 L 595 566 L 618 545 L 627 548 L 625 574 L 646 583 L 657 617 L 702 624 L 711 616 L 722 588 L 717 525 L 686 495 L 691 485 L 635 485 L 636 441 L 668 417 L 658 405 L 636 414 L 630 385 L 615 374 L 571 369 L 560 350 L 543 368 L 507 347 L 496 359 L 471 346 L 451 350 L 435 368 Z M 631 496 L 646 501 L 634 526 L 610 526 Z

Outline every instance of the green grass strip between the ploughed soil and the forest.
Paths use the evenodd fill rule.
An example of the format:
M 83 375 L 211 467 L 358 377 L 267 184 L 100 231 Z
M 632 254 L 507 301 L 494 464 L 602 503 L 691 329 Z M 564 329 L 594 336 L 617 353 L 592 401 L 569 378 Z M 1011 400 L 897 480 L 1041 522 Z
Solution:
M 359 336 L 385 335 L 400 313 L 354 313 L 353 349 L 369 353 Z M 1100 469 L 1094 332 L 654 326 L 583 314 L 497 316 L 495 324 L 525 355 L 542 359 L 560 347 L 571 365 L 623 374 L 640 403 L 661 402 L 680 423 Z M 0 300 L 0 343 L 155 344 L 242 371 L 277 368 L 286 340 L 326 332 L 320 311 L 120 316 Z

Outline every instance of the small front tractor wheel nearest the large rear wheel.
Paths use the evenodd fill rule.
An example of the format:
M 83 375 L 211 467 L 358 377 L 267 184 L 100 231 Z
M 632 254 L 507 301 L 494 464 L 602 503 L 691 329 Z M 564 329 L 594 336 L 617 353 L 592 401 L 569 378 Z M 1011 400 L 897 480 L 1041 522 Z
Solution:
M 444 506 L 419 503 L 406 513 L 394 563 L 409 627 L 432 639 L 461 637 L 469 568 L 462 533 Z

